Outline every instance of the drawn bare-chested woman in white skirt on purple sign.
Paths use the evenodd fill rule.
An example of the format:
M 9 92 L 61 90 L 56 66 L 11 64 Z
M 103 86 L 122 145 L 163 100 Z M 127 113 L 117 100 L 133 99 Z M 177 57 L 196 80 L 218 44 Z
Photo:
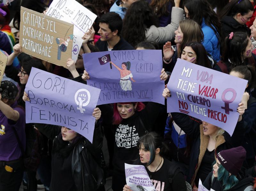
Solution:
M 116 69 L 120 72 L 120 85 L 122 90 L 124 91 L 132 90 L 132 82 L 129 80 L 129 78 L 131 78 L 133 82 L 135 82 L 135 80 L 133 80 L 132 78 L 133 76 L 130 71 L 131 62 L 123 62 L 121 64 L 122 69 L 119 68 L 117 65 L 115 65 L 112 61 L 110 61 L 110 63 L 114 65 Z

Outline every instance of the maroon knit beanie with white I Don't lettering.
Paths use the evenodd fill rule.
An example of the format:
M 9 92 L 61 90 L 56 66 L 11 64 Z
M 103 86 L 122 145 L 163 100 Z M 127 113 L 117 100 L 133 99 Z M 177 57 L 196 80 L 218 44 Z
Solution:
M 237 175 L 240 171 L 246 157 L 246 150 L 244 147 L 235 147 L 232 149 L 222 150 L 217 154 L 220 164 L 230 172 Z

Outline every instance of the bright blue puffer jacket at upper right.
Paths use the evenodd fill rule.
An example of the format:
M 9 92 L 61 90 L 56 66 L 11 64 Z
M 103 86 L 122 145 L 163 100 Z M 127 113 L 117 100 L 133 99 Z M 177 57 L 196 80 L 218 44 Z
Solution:
M 215 61 L 220 60 L 220 43 L 218 36 L 214 33 L 211 27 L 205 24 L 204 18 L 202 21 L 202 31 L 204 33 L 203 45 L 205 50 L 212 55 Z

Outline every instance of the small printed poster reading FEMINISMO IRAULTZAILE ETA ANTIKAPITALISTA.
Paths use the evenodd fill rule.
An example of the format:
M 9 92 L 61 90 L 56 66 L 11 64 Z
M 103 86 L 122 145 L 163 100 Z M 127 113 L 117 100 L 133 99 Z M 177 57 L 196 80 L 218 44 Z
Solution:
M 124 163 L 126 184 L 132 191 L 156 190 L 143 165 L 132 165 Z

